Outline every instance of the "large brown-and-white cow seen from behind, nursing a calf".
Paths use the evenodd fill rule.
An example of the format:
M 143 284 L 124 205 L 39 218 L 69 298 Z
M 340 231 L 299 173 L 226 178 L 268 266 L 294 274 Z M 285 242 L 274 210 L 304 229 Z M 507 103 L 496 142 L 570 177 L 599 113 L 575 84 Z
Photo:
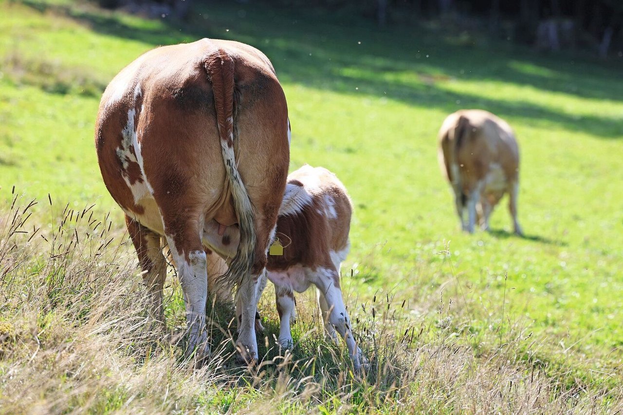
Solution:
M 95 126 L 106 187 L 126 214 L 144 279 L 163 319 L 164 236 L 186 303 L 188 355 L 209 354 L 205 331 L 209 240 L 227 226 L 241 243 L 223 281 L 238 287 L 237 344 L 257 358 L 255 313 L 265 284 L 289 164 L 288 110 L 262 52 L 202 39 L 151 50 L 108 85 Z

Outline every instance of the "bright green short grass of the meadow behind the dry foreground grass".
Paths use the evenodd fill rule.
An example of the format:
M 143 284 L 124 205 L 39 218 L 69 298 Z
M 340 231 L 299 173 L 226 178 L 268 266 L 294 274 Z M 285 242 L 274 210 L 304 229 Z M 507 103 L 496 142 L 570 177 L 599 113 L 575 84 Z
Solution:
M 617 388 L 621 63 L 540 55 L 435 24 L 379 31 L 317 13 L 217 3 L 179 26 L 68 1 L 1 2 L 0 198 L 10 200 L 14 185 L 41 201 L 50 194 L 52 215 L 39 205 L 44 224 L 59 205 L 95 202 L 121 229 L 93 149 L 103 86 L 157 45 L 247 42 L 272 60 L 285 90 L 291 169 L 327 167 L 353 198 L 342 270 L 351 307 L 375 296 L 405 300 L 401 324 L 430 329 L 417 342 L 450 330 L 486 360 L 512 340 L 520 360 L 564 383 Z M 436 157 L 437 130 L 459 108 L 492 111 L 515 129 L 526 238 L 511 235 L 506 200 L 492 232 L 460 232 Z M 179 302 L 170 307 L 174 314 Z M 264 308 L 272 307 L 267 296 Z M 301 349 L 300 357 L 314 350 Z M 102 409 L 118 409 L 115 399 L 125 395 Z

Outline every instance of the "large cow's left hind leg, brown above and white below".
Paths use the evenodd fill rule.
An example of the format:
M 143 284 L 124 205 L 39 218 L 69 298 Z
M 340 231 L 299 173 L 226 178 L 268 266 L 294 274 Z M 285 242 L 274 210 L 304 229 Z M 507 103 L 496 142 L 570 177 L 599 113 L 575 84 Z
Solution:
M 206 334 L 207 258 L 199 238 L 202 226 L 192 217 L 185 218 L 179 212 L 164 216 L 164 229 L 184 292 L 188 325 L 186 356 L 196 351 L 197 361 L 201 361 L 210 352 Z

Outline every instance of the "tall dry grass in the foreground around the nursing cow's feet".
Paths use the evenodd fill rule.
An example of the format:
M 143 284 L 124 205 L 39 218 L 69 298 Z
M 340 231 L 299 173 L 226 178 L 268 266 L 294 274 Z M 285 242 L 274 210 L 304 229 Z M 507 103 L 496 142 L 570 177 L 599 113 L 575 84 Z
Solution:
M 56 208 L 51 198 L 44 203 Z M 620 387 L 569 382 L 526 360 L 521 327 L 504 343 L 500 337 L 494 353 L 475 357 L 473 338 L 447 324 L 444 304 L 429 327 L 409 320 L 405 303 L 388 294 L 358 305 L 357 334 L 371 361 L 363 375 L 320 334 L 309 302 L 298 307 L 292 352 L 275 344 L 278 323 L 262 303 L 269 318 L 253 368 L 232 358 L 231 310 L 212 309 L 212 360 L 195 370 L 174 340 L 181 329 L 161 327 L 146 311 L 123 232 L 93 207 L 69 205 L 53 226 L 32 225 L 34 208 L 36 201 L 14 197 L 0 215 L 2 413 L 562 414 L 623 406 Z M 179 288 L 168 292 L 175 322 L 183 315 Z

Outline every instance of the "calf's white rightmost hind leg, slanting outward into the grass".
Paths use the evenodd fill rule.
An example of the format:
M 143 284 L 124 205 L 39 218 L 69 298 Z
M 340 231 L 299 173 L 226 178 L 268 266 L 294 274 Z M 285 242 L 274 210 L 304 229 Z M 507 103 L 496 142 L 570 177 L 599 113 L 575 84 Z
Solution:
M 340 273 L 335 268 L 320 268 L 316 272 L 316 287 L 325 295 L 326 304 L 329 312 L 329 322 L 340 333 L 348 347 L 348 353 L 353 359 L 353 366 L 356 370 L 361 368 L 361 363 L 365 363 L 365 358 L 361 349 L 354 340 L 351 320 L 346 311 L 346 305 L 342 298 L 340 289 Z

